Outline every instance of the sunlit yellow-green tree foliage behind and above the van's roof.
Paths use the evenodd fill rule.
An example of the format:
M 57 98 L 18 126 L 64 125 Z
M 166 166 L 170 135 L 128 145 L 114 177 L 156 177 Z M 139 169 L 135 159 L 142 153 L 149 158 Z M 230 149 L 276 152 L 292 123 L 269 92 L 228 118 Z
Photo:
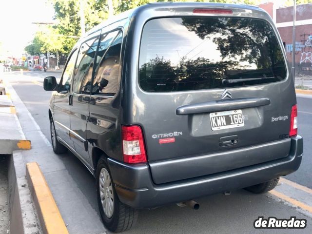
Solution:
M 137 6 L 168 0 L 113 0 L 114 14 L 124 12 Z M 170 1 L 170 0 L 169 0 Z M 171 1 L 198 1 L 245 3 L 256 5 L 260 0 L 171 0 Z M 307 0 L 306 0 L 307 1 Z M 95 25 L 108 18 L 107 0 L 49 0 L 55 10 L 54 26 L 41 26 L 32 43 L 25 47 L 31 55 L 41 53 L 63 53 L 68 55 L 78 37 L 81 36 L 80 28 L 80 2 L 83 4 L 85 30 L 88 31 Z

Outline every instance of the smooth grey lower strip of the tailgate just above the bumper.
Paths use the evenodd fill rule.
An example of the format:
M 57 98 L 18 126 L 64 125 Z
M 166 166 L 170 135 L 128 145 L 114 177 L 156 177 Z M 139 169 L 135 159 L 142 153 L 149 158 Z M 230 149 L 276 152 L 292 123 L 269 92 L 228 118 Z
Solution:
M 291 139 L 288 138 L 215 154 L 154 162 L 150 163 L 150 168 L 154 182 L 162 184 L 284 158 L 289 155 L 290 143 Z M 173 168 L 179 168 L 179 170 L 173 170 Z

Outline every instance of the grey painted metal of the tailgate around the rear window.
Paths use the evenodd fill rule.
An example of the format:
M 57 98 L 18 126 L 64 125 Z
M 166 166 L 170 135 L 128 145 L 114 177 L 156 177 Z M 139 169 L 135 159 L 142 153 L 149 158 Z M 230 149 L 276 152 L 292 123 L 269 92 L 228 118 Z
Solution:
M 140 57 L 140 41 L 146 22 L 151 19 L 168 17 L 191 17 L 191 15 L 194 17 L 192 11 L 195 8 L 214 8 L 217 6 L 223 8 L 225 5 L 227 5 L 227 9 L 233 11 L 233 15 L 231 16 L 233 18 L 260 18 L 261 20 L 266 20 L 272 26 L 286 64 L 285 51 L 278 32 L 273 26 L 272 19 L 267 13 L 255 7 L 250 7 L 247 10 L 246 6 L 228 4 L 186 3 L 172 4 L 172 7 L 168 5 L 164 7 L 164 4 L 157 4 L 157 6 L 153 7 L 142 6 L 133 12 L 125 50 L 124 69 L 130 69 L 130 72 L 127 70 L 127 76 L 125 77 L 125 70 L 123 70 L 123 89 L 124 93 L 126 93 L 124 97 L 127 98 L 122 98 L 121 100 L 121 124 L 137 124 L 142 127 L 147 159 L 155 183 L 175 181 L 185 178 L 186 175 L 192 177 L 210 175 L 212 173 L 222 172 L 226 168 L 234 169 L 234 165 L 239 168 L 241 166 L 262 163 L 287 156 L 287 150 L 284 150 L 281 154 L 268 154 L 268 151 L 264 150 L 263 154 L 261 154 L 261 151 L 257 154 L 254 161 L 247 162 L 246 160 L 246 163 L 235 163 L 235 161 L 242 159 L 240 157 L 223 157 L 223 154 L 228 151 L 275 141 L 281 141 L 280 144 L 289 150 L 290 141 L 285 142 L 283 139 L 287 138 L 289 134 L 291 109 L 296 104 L 296 98 L 292 76 L 289 73 L 289 67 L 287 65 L 285 65 L 286 77 L 279 82 L 226 88 L 231 93 L 232 100 L 222 100 L 222 94 L 225 91 L 224 88 L 178 92 L 147 92 L 139 85 L 139 61 L 137 58 Z M 247 105 L 244 105 L 243 101 L 241 104 L 234 103 L 235 100 L 248 98 L 257 101 L 251 101 Z M 232 107 L 231 101 L 233 101 Z M 219 104 L 222 102 L 228 103 L 223 105 L 223 108 L 216 108 L 217 104 L 215 103 Z M 189 114 L 181 115 L 181 109 L 185 109 L 188 106 L 200 106 L 202 103 L 206 103 L 204 107 L 195 108 L 196 111 L 189 111 Z M 217 131 L 212 130 L 209 117 L 211 112 L 236 109 L 242 111 L 244 126 Z M 284 116 L 286 118 L 284 120 L 272 121 L 275 117 Z M 220 146 L 221 137 L 232 135 L 237 136 L 235 144 Z M 174 138 L 172 140 L 174 142 L 162 143 L 162 139 L 166 141 L 168 138 L 170 140 Z M 278 149 L 280 149 L 278 145 L 280 144 L 273 144 L 270 147 L 271 150 L 278 152 Z M 194 164 L 190 163 L 190 165 L 185 163 L 183 164 L 184 176 L 175 175 L 175 169 L 177 166 L 181 166 L 181 164 L 175 162 L 178 162 L 180 159 L 196 158 L 210 154 L 215 155 L 214 162 L 218 163 L 200 170 L 198 167 L 194 167 L 194 165 L 198 165 L 195 162 Z M 266 155 L 263 156 L 264 154 Z M 219 159 L 216 159 L 218 156 Z M 162 163 L 171 160 L 173 162 L 164 167 L 166 169 L 161 167 Z M 207 162 L 207 164 L 209 163 Z

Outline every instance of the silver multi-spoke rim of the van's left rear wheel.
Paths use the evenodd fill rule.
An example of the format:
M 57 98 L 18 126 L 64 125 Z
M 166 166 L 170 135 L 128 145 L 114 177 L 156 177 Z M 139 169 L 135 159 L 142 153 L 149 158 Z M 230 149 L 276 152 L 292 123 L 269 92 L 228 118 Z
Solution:
M 99 174 L 99 195 L 105 215 L 111 218 L 114 213 L 114 192 L 112 181 L 106 168 Z

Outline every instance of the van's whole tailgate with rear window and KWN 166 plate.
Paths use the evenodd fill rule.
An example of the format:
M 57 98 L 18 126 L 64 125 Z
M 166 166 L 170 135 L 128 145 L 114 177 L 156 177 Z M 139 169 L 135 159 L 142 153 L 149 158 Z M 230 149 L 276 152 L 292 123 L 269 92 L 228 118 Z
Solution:
M 155 183 L 287 156 L 295 104 L 287 74 L 265 20 L 148 21 L 140 45 L 141 93 L 134 101 L 140 113 L 133 115 L 144 130 Z M 265 150 L 256 150 L 263 144 Z

